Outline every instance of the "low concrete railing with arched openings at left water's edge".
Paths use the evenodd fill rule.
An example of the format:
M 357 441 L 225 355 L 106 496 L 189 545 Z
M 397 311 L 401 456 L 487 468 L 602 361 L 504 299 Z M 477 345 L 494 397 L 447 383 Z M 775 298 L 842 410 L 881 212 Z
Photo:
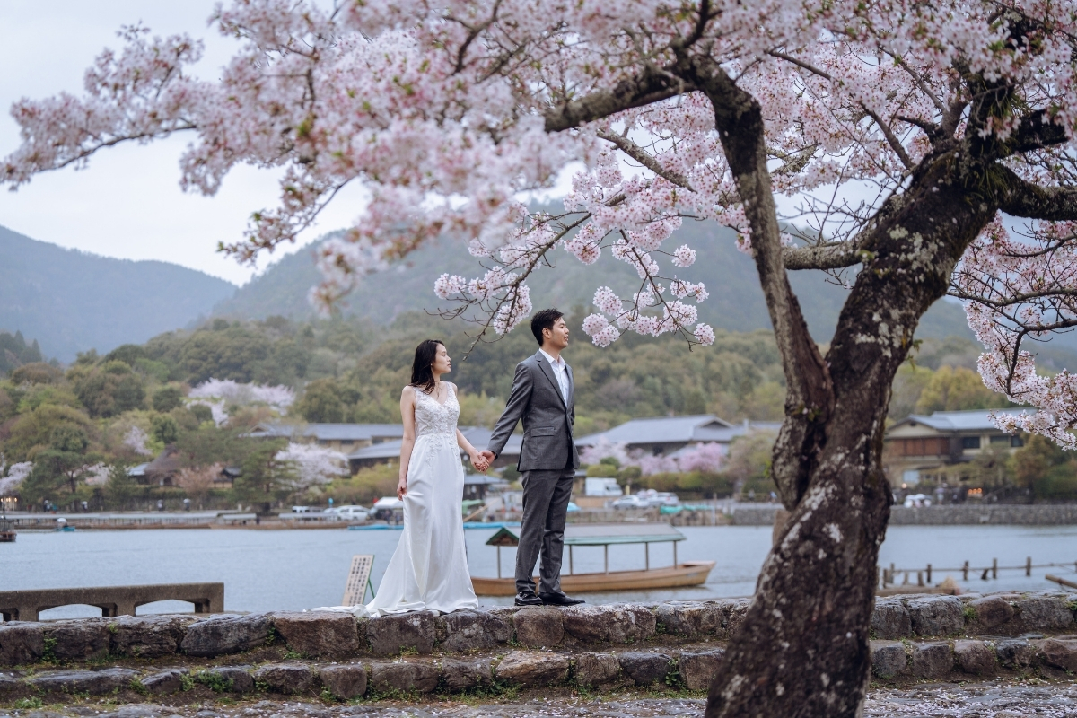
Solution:
M 157 601 L 186 601 L 196 614 L 224 611 L 224 583 L 154 583 L 84 589 L 0 591 L 0 615 L 5 621 L 37 621 L 43 610 L 58 606 L 97 606 L 101 616 L 134 616 L 135 609 Z

